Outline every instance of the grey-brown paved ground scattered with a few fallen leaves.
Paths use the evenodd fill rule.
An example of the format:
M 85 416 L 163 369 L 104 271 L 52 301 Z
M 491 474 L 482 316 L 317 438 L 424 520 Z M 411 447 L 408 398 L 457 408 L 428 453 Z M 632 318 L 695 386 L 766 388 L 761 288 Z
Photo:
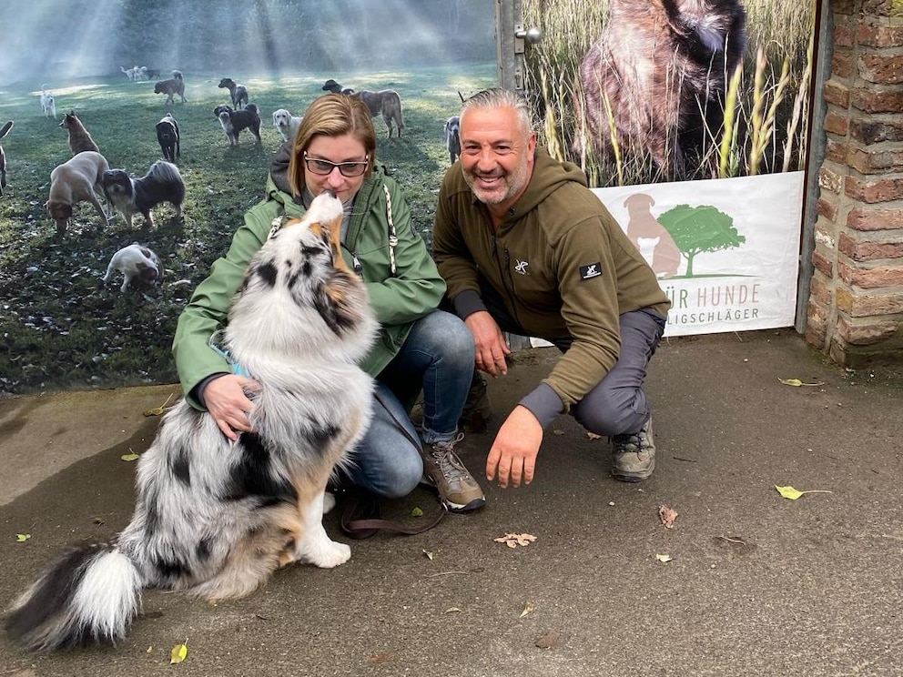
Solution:
M 555 355 L 517 352 L 492 381 L 496 428 Z M 477 513 L 352 541 L 338 569 L 279 571 L 242 601 L 148 591 L 113 649 L 33 656 L 2 638 L 0 675 L 901 675 L 900 373 L 840 369 L 788 330 L 671 339 L 648 379 L 650 480 L 613 480 L 608 443 L 562 417 L 533 484 L 486 484 Z M 158 419 L 142 412 L 175 392 L 0 400 L 2 611 L 66 543 L 127 523 L 121 457 L 147 449 Z M 465 440 L 474 475 L 491 441 Z M 436 500 L 417 490 L 387 510 L 414 507 L 428 517 Z M 327 528 L 347 541 L 334 515 Z M 536 541 L 493 541 L 506 532 Z

